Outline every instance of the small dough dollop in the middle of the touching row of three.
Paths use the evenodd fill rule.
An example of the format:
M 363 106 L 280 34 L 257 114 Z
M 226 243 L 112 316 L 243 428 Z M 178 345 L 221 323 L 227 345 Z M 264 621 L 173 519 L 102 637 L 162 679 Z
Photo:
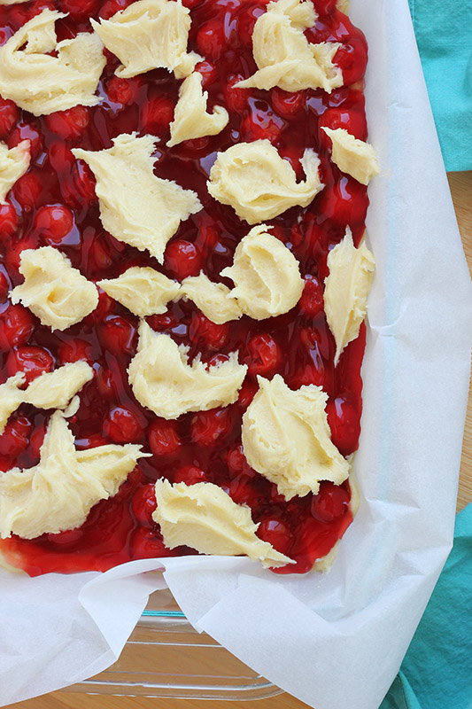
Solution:
M 241 306 L 231 297 L 229 288 L 222 283 L 213 283 L 205 273 L 184 278 L 180 293 L 184 298 L 192 300 L 205 317 L 218 325 L 237 320 L 243 315 Z

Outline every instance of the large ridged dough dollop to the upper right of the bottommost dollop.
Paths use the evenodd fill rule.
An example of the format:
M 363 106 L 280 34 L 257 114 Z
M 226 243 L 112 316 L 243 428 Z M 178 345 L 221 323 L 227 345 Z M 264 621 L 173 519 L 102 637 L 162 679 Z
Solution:
M 320 480 L 344 482 L 349 463 L 331 440 L 328 394 L 313 384 L 293 391 L 280 374 L 258 381 L 242 428 L 244 456 L 251 467 L 275 483 L 286 500 L 318 493 Z

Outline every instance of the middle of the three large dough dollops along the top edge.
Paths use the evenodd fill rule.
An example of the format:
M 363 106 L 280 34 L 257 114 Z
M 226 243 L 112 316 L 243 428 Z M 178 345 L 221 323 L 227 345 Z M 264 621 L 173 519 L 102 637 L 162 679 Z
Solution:
M 115 74 L 124 78 L 159 67 L 177 79 L 188 76 L 201 57 L 187 53 L 190 11 L 181 0 L 139 0 L 110 19 L 90 19 L 107 50 L 122 63 Z

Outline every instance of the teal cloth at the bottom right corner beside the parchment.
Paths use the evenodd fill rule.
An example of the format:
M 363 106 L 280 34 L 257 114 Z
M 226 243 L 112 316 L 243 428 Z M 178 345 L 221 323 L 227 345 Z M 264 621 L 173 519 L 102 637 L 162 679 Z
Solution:
M 380 709 L 472 709 L 472 503 Z

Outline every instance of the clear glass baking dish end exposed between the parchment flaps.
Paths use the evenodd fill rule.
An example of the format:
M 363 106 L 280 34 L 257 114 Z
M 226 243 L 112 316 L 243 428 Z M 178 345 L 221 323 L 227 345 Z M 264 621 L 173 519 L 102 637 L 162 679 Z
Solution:
M 168 590 L 152 594 L 114 665 L 63 691 L 239 701 L 282 693 L 212 637 L 198 634 Z

